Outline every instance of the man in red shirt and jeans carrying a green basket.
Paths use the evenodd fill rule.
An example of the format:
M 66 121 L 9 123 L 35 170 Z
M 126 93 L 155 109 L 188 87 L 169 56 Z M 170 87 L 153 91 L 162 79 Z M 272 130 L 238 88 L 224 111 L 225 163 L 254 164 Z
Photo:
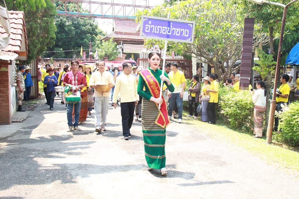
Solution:
M 82 72 L 78 72 L 79 68 L 79 62 L 76 60 L 72 60 L 71 62 L 72 71 L 67 72 L 63 79 L 63 85 L 64 86 L 70 86 L 73 92 L 77 92 L 78 90 L 82 90 L 85 86 L 87 86 L 86 77 Z M 74 124 L 73 124 L 73 106 L 74 106 Z M 71 104 L 69 103 L 67 106 L 67 117 L 68 117 L 68 125 L 69 129 L 68 132 L 71 132 L 74 126 L 75 131 L 81 131 L 81 129 L 78 127 L 78 121 L 79 121 L 79 115 L 80 115 L 80 107 L 81 102 L 77 104 Z

